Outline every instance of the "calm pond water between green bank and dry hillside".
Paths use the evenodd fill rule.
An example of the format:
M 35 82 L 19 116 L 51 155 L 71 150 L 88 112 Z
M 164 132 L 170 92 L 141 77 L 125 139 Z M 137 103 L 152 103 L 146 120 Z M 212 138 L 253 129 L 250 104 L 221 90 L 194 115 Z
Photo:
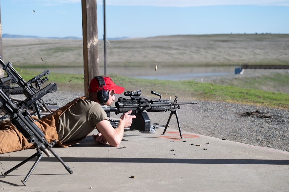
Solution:
M 107 74 L 118 74 L 127 77 L 135 77 L 142 79 L 160 79 L 160 80 L 188 80 L 205 81 L 208 79 L 220 79 L 235 77 L 235 68 L 230 67 L 107 67 Z M 49 69 L 55 73 L 74 73 L 83 74 L 83 67 L 63 67 L 63 68 L 29 68 L 43 72 Z M 267 74 L 271 72 L 280 72 L 282 70 L 270 69 L 250 69 L 245 70 L 243 76 L 255 74 Z M 288 70 L 284 70 L 288 71 Z M 104 74 L 104 68 L 100 67 L 99 72 Z

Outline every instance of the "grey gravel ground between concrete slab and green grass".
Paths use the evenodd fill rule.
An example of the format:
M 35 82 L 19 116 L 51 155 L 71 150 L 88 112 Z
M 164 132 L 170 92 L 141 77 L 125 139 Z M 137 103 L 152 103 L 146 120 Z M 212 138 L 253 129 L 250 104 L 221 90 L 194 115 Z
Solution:
M 56 102 L 58 106 L 63 106 L 82 95 L 81 92 L 57 91 L 47 94 L 45 99 L 53 99 L 51 103 Z M 116 98 L 120 96 L 123 95 L 116 95 Z M 182 131 L 289 151 L 289 110 L 227 102 L 194 101 L 197 101 L 197 105 L 181 105 L 178 109 Z M 178 102 L 188 101 L 179 98 Z M 120 115 L 111 114 L 111 117 Z M 170 113 L 155 112 L 148 115 L 151 123 L 165 125 Z M 169 128 L 178 130 L 175 115 L 171 118 Z M 157 129 L 156 134 L 163 133 L 163 130 Z

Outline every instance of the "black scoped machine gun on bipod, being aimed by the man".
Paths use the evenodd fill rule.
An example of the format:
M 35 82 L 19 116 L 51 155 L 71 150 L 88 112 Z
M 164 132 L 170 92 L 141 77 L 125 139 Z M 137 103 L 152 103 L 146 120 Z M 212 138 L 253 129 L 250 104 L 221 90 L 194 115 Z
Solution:
M 151 91 L 152 94 L 162 97 L 161 94 L 158 94 L 154 91 Z M 138 91 L 130 91 L 125 92 L 125 96 L 129 96 L 130 98 L 119 97 L 118 101 L 115 102 L 115 107 L 110 107 L 108 105 L 101 105 L 108 117 L 110 117 L 110 112 L 115 112 L 115 114 L 125 113 L 129 110 L 132 110 L 132 115 L 136 115 L 136 118 L 133 119 L 130 129 L 136 129 L 139 131 L 150 131 L 151 121 L 146 112 L 163 112 L 163 111 L 171 111 L 171 115 L 168 118 L 166 123 L 164 135 L 166 133 L 166 129 L 168 128 L 168 124 L 171 120 L 173 114 L 176 115 L 177 124 L 179 127 L 179 133 L 181 139 L 184 139 L 181 133 L 181 126 L 179 123 L 178 113 L 175 109 L 180 109 L 179 105 L 186 104 L 197 104 L 197 102 L 178 102 L 178 97 L 175 96 L 175 101 L 169 100 L 148 100 L 140 97 L 141 90 Z

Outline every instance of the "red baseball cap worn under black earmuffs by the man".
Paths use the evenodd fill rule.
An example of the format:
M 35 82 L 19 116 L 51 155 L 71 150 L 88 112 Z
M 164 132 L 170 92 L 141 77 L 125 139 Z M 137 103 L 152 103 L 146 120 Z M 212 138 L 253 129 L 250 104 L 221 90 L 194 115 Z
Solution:
M 121 94 L 125 88 L 117 86 L 110 77 L 103 77 L 105 85 L 103 85 L 103 89 L 108 90 L 108 91 L 114 91 L 116 94 Z M 93 78 L 90 81 L 90 89 L 88 89 L 88 92 L 97 92 L 99 91 L 99 85 L 97 77 Z

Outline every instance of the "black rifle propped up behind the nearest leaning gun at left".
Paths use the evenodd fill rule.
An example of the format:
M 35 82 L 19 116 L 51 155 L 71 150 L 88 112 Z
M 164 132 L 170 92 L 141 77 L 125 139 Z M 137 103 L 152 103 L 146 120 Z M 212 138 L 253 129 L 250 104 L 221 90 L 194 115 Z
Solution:
M 45 111 L 51 113 L 51 111 L 48 109 L 46 103 L 43 101 L 42 96 L 44 96 L 47 93 L 52 93 L 57 90 L 57 84 L 56 83 L 50 83 L 44 88 L 40 88 L 40 84 L 44 83 L 48 78 L 45 78 L 41 80 L 41 77 L 44 75 L 49 74 L 49 70 L 46 70 L 45 72 L 42 72 L 38 76 L 34 77 L 33 79 L 26 82 L 13 68 L 12 64 L 8 61 L 8 64 L 5 64 L 0 56 L 0 64 L 3 67 L 3 70 L 7 73 L 7 77 L 0 78 L 0 82 L 4 84 L 7 81 L 10 81 L 12 84 L 17 83 L 19 87 L 23 89 L 23 94 L 26 96 L 26 100 L 19 103 L 19 107 L 21 109 L 26 107 L 33 106 L 33 113 L 37 114 L 39 118 L 41 118 L 40 111 Z M 33 86 L 31 83 L 36 83 L 36 88 L 38 87 L 38 90 Z M 32 108 L 32 107 L 31 107 Z M 35 110 L 35 111 L 34 111 Z

